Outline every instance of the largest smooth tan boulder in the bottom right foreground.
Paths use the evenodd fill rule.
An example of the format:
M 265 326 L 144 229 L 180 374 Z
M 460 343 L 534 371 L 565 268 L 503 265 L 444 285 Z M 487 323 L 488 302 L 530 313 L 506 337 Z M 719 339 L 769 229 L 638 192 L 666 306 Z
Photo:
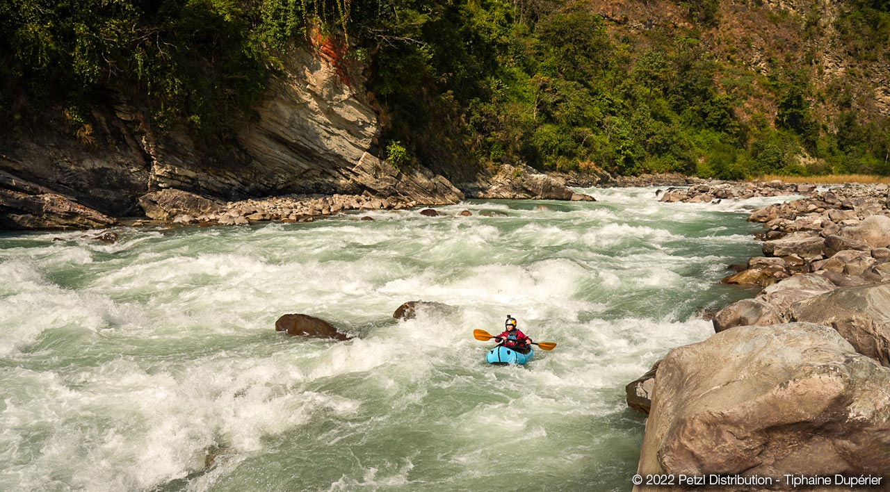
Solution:
M 890 470 L 890 369 L 829 327 L 736 327 L 679 347 L 659 365 L 653 397 L 643 476 L 758 475 L 789 490 L 784 473 Z

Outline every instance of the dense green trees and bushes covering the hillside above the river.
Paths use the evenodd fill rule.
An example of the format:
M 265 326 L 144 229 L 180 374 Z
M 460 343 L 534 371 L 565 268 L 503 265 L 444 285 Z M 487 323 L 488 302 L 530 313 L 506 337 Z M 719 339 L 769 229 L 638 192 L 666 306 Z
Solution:
M 722 21 L 716 0 L 676 5 L 697 28 L 631 36 L 583 0 L 8 0 L 0 112 L 20 94 L 61 100 L 84 133 L 90 105 L 112 90 L 159 128 L 182 121 L 230 138 L 287 50 L 320 33 L 368 64 L 392 122 L 381 154 L 397 166 L 890 174 L 890 125 L 862 111 L 853 76 L 816 87 L 809 66 L 781 53 L 769 77 L 741 69 L 726 60 L 746 41 L 725 56 L 706 41 Z M 887 5 L 844 11 L 849 52 L 886 62 Z M 818 17 L 800 23 L 816 36 Z M 758 97 L 774 117 L 746 106 Z

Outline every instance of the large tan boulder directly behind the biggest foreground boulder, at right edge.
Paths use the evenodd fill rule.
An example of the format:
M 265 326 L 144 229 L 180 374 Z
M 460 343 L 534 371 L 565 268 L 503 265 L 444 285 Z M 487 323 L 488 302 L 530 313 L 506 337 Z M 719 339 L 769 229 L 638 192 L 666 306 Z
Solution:
M 833 327 L 857 352 L 890 366 L 890 282 L 837 288 L 795 303 L 789 314 Z

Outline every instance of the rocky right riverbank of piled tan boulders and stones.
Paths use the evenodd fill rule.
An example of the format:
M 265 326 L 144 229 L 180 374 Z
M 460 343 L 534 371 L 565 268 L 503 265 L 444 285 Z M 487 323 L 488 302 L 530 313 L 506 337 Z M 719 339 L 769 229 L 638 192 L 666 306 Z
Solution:
M 716 335 L 668 352 L 655 370 L 627 385 L 628 404 L 649 415 L 638 471 L 884 476 L 890 470 L 888 188 L 817 191 L 771 182 L 757 190 L 809 196 L 748 218 L 765 223 L 764 256 L 724 281 L 762 292 L 719 311 Z M 668 190 L 662 201 L 709 202 L 751 191 L 748 183 L 700 184 Z M 777 481 L 744 489 L 792 488 Z

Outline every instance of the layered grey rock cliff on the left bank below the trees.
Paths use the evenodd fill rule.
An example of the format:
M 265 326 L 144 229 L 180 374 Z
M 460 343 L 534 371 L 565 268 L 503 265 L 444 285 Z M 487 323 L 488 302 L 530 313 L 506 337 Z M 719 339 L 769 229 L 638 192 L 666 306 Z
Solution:
M 325 52 L 291 53 L 255 113 L 237 141 L 208 148 L 184 127 L 154 131 L 142 111 L 109 93 L 105 105 L 93 108 L 92 133 L 73 136 L 64 117 L 50 111 L 28 129 L 0 136 L 0 170 L 28 181 L 29 190 L 54 191 L 113 216 L 141 215 L 138 198 L 162 189 L 227 199 L 366 191 L 428 205 L 463 198 L 428 169 L 402 172 L 371 153 L 380 132 L 376 112 L 361 81 L 350 80 Z M 0 183 L 0 198 L 12 193 L 21 190 Z M 0 214 L 22 214 L 17 200 L 0 201 Z M 33 206 L 28 214 L 35 214 Z M 38 222 L 32 217 L 18 226 Z

